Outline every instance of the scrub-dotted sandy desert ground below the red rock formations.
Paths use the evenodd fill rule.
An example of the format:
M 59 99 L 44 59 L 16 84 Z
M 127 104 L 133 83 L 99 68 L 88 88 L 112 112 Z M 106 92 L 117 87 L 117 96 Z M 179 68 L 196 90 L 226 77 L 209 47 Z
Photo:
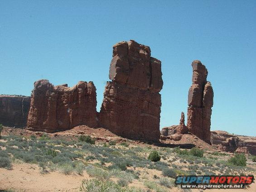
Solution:
M 251 155 L 246 154 L 246 166 L 237 166 L 228 160 L 233 153 L 219 152 L 189 135 L 184 138 L 194 139 L 194 146 L 185 145 L 185 140 L 184 145 L 134 141 L 86 126 L 54 134 L 5 127 L 0 139 L 0 190 L 199 192 L 203 190 L 176 186 L 175 177 L 183 174 L 255 176 L 256 163 Z M 192 148 L 202 151 L 203 157 L 193 154 Z M 157 162 L 148 159 L 154 150 L 161 156 Z M 256 184 L 245 189 L 225 189 L 229 191 L 255 192 Z

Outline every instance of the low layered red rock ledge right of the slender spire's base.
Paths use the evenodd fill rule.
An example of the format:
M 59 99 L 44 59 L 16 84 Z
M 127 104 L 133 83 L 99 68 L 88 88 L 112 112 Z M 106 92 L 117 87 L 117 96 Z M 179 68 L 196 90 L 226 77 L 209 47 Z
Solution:
M 235 135 L 217 130 L 211 131 L 211 143 L 223 151 L 256 155 L 256 137 Z

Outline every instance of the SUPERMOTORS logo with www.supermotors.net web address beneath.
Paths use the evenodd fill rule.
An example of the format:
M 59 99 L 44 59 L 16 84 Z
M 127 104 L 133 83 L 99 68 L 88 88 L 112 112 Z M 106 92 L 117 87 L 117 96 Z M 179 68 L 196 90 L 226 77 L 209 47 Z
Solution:
M 179 175 L 175 179 L 176 185 L 183 189 L 240 189 L 253 182 L 253 175 Z

